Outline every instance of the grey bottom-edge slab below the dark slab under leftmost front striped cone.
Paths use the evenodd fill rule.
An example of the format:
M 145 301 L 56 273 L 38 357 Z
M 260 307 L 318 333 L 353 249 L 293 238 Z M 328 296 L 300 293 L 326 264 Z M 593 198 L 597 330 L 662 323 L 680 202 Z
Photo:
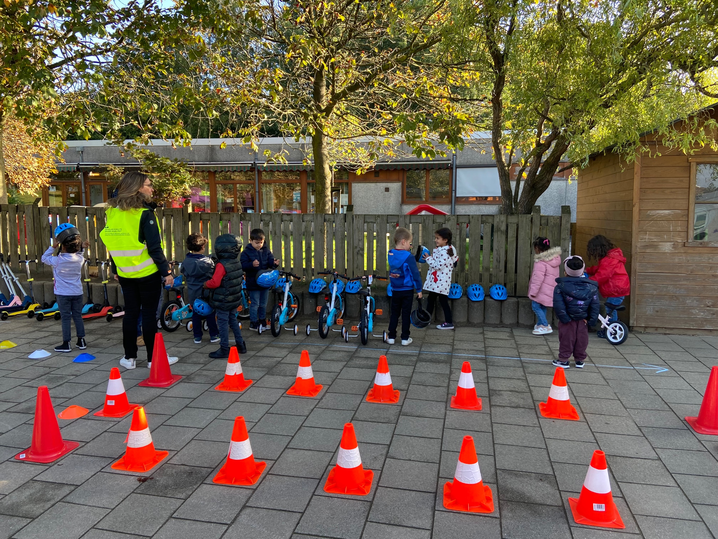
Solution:
M 136 535 L 154 535 L 182 505 L 181 499 L 130 494 L 95 528 Z

